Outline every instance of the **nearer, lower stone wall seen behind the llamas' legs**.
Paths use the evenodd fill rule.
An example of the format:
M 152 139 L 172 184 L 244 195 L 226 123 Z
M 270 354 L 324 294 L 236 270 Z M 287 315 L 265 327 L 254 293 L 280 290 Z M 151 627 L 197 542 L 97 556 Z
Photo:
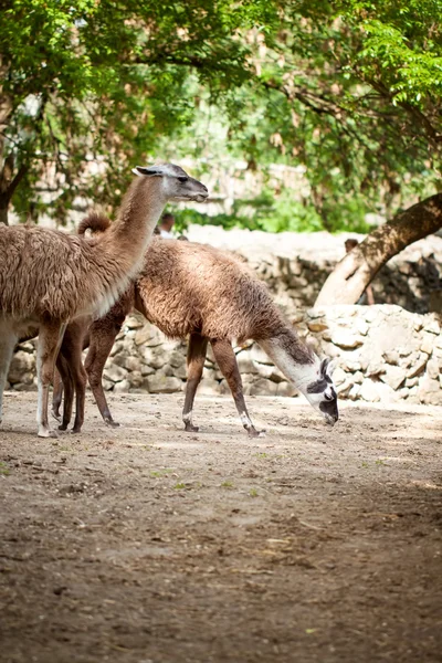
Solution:
M 296 327 L 319 355 L 336 359 L 340 398 L 386 403 L 442 404 L 442 337 L 436 314 L 412 314 L 394 305 L 330 306 L 298 312 Z M 256 344 L 235 348 L 246 394 L 293 396 L 296 391 Z M 35 388 L 34 341 L 14 355 L 13 389 Z M 127 318 L 104 371 L 114 392 L 171 393 L 186 385 L 186 344 L 168 340 L 140 315 Z M 206 361 L 203 393 L 228 393 L 213 362 Z

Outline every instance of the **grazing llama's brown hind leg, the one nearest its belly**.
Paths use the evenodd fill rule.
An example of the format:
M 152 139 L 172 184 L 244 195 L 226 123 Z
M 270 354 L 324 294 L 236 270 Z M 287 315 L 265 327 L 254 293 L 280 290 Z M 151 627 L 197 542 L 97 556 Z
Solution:
M 91 385 L 92 392 L 95 398 L 95 402 L 98 406 L 98 410 L 108 425 L 118 427 L 119 423 L 114 421 L 107 399 L 104 394 L 103 389 L 103 370 L 106 359 L 110 354 L 112 346 L 114 345 L 115 338 L 122 328 L 122 324 L 116 324 L 109 328 L 101 325 L 101 320 L 97 320 L 90 329 L 90 349 L 87 352 L 85 369 L 87 379 Z

